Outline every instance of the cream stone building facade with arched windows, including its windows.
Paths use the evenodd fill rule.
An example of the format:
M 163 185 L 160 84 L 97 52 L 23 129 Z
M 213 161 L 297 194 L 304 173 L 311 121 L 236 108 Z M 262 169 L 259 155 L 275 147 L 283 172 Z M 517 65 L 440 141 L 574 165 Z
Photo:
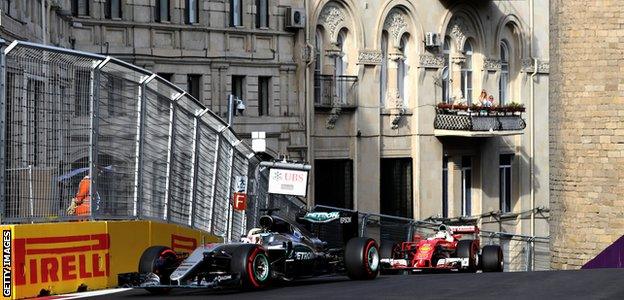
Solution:
M 311 1 L 315 203 L 547 237 L 547 8 L 539 0 Z M 523 104 L 526 128 L 442 122 L 477 126 L 479 109 L 441 116 L 438 104 L 475 104 L 482 90 L 495 104 Z M 502 244 L 510 269 L 526 266 L 525 243 Z M 549 268 L 548 243 L 529 257 L 535 269 Z

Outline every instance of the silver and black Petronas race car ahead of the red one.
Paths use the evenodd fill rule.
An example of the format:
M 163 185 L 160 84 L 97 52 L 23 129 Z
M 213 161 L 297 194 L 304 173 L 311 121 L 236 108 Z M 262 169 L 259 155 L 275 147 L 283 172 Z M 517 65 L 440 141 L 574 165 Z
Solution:
M 356 236 L 344 247 L 331 248 L 306 228 L 337 220 L 342 226 L 351 217 L 313 212 L 290 222 L 269 210 L 260 217 L 260 227 L 251 229 L 240 243 L 207 244 L 187 255 L 164 246 L 149 247 L 139 261 L 139 287 L 160 294 L 176 287 L 255 289 L 271 281 L 326 274 L 374 279 L 379 272 L 375 240 Z

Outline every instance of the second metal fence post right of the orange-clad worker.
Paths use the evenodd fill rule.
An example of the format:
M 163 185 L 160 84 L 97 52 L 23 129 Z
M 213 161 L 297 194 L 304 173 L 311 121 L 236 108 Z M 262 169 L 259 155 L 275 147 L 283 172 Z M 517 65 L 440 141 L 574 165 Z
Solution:
M 145 93 L 147 84 L 156 77 L 156 74 L 145 78 L 139 83 L 139 104 L 137 113 L 137 138 L 136 138 L 136 155 L 135 155 L 135 168 L 136 173 L 134 177 L 134 209 L 133 215 L 139 217 L 142 213 L 143 207 L 143 140 L 145 139 L 145 115 L 146 115 L 146 101 L 147 96 Z

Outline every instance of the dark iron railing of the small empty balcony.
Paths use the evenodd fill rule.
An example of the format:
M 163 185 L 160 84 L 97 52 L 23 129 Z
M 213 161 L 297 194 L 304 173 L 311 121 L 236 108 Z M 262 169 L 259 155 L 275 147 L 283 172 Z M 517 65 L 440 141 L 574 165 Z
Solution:
M 355 108 L 357 76 L 314 75 L 314 106 Z

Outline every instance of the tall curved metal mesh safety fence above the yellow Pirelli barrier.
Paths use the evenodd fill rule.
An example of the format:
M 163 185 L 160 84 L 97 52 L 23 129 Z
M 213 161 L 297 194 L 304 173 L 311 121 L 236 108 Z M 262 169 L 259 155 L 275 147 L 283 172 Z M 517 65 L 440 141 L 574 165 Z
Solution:
M 2 50 L 2 223 L 152 219 L 228 238 L 245 231 L 230 198 L 252 152 L 196 99 L 109 56 L 20 41 Z

